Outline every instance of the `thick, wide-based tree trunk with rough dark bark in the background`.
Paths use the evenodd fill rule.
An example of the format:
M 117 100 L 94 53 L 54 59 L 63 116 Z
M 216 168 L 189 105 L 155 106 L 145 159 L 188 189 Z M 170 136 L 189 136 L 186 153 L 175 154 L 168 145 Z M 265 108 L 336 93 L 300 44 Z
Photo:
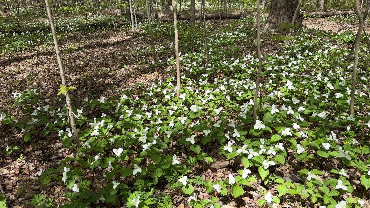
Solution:
M 272 0 L 269 16 L 266 19 L 263 31 L 268 32 L 276 29 L 281 23 L 290 24 L 297 6 L 298 2 L 295 0 Z M 297 16 L 295 22 L 299 24 L 299 27 L 303 26 L 301 15 Z

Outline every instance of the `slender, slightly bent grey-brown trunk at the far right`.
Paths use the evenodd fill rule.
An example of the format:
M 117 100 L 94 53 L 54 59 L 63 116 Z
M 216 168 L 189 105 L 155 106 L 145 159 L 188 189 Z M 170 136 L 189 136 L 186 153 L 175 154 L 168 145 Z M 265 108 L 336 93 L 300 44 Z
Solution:
M 362 33 L 362 27 L 364 26 L 364 20 L 362 19 L 362 14 L 359 6 L 359 0 L 355 0 L 356 6 L 356 14 L 359 18 L 360 25 L 359 30 L 357 31 L 356 36 L 356 43 L 354 47 L 354 64 L 353 64 L 353 71 L 352 71 L 352 86 L 351 86 L 351 101 L 350 101 L 350 113 L 354 114 L 354 92 L 356 91 L 356 72 L 357 72 L 357 64 L 359 62 L 359 48 L 360 48 L 360 39 Z

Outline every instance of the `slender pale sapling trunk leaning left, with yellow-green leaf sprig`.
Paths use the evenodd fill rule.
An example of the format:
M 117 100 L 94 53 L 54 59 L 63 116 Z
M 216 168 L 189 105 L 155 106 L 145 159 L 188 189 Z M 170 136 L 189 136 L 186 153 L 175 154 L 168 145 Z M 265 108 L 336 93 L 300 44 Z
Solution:
M 62 80 L 62 85 L 65 86 L 65 87 L 67 87 L 67 80 L 65 78 L 65 69 L 64 69 L 63 62 L 62 62 L 62 58 L 60 56 L 60 50 L 59 50 L 59 45 L 58 45 L 57 33 L 55 31 L 54 19 L 53 19 L 53 16 L 51 14 L 50 7 L 49 7 L 49 0 L 45 0 L 45 6 L 46 6 L 46 10 L 47 10 L 47 16 L 49 17 L 51 34 L 53 34 L 55 52 L 57 54 L 58 65 L 59 65 L 59 69 L 60 69 L 60 77 L 61 77 L 61 80 Z M 71 99 L 69 97 L 68 91 L 65 91 L 65 102 L 67 104 L 66 107 L 67 107 L 68 117 L 69 117 L 69 120 L 71 122 L 71 127 L 72 127 L 72 131 L 73 131 L 73 138 L 74 138 L 74 141 L 75 141 L 75 145 L 77 147 L 77 150 L 78 150 L 78 148 L 81 147 L 81 144 L 80 144 L 80 140 L 78 139 L 78 132 L 77 132 L 76 124 L 74 123 L 73 110 L 72 110 L 72 102 L 71 102 Z

